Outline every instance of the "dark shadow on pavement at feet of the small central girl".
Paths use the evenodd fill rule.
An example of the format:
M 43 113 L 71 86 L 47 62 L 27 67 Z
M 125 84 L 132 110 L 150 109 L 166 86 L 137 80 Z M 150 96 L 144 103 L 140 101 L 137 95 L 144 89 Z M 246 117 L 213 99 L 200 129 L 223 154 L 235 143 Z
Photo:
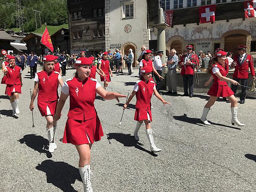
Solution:
M 148 150 L 144 149 L 143 147 L 141 147 L 141 146 L 143 146 L 143 144 L 141 144 L 140 142 L 135 140 L 134 136 L 132 136 L 131 134 L 108 133 L 107 136 L 108 136 L 107 139 L 109 140 L 110 144 L 111 144 L 110 140 L 113 138 L 113 139 L 117 140 L 118 142 L 122 143 L 125 147 L 135 147 L 138 150 L 145 151 L 154 157 L 158 156 L 155 153 L 148 151 Z M 148 146 L 150 146 L 150 145 L 148 144 Z

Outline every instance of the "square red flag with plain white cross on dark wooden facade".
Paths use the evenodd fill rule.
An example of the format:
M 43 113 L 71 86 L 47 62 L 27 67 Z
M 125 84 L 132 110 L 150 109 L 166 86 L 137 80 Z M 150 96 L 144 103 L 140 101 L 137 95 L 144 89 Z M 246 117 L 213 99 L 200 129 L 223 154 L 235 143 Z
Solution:
M 215 22 L 216 4 L 199 7 L 200 23 Z

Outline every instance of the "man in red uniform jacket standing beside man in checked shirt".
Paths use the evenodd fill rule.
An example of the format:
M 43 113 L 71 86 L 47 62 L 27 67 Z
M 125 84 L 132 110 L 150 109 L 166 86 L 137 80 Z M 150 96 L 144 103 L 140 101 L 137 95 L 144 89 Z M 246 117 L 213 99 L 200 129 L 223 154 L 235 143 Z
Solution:
M 179 63 L 181 67 L 180 74 L 182 75 L 182 78 L 183 78 L 183 87 L 184 87 L 184 94 L 182 96 L 193 97 L 194 72 L 199 65 L 199 60 L 198 60 L 197 54 L 192 53 L 193 52 L 192 45 L 187 45 L 186 50 L 187 50 L 187 54 L 182 55 L 182 58 Z M 187 84 L 189 85 L 189 87 L 187 87 Z M 187 88 L 189 88 L 189 93 L 187 91 Z

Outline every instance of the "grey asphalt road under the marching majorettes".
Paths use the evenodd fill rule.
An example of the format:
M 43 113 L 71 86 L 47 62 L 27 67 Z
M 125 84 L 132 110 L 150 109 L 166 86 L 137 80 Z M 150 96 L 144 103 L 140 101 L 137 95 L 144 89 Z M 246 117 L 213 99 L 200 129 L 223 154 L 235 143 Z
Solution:
M 73 73 L 68 70 L 64 79 Z M 29 88 L 33 81 L 26 72 L 22 76 L 24 86 L 17 119 L 10 116 L 5 86 L 0 85 L 0 191 L 82 192 L 75 147 L 57 141 L 58 149 L 52 155 L 48 152 L 46 120 L 36 105 L 32 127 Z M 114 75 L 114 84 L 109 84 L 108 90 L 127 94 L 135 81 L 134 76 Z M 163 93 L 163 97 L 171 106 L 164 107 L 155 96 L 152 98 L 153 134 L 162 149 L 154 154 L 149 151 L 145 128 L 139 131 L 140 141 L 134 140 L 135 99 L 119 126 L 125 98 L 118 104 L 96 96 L 95 106 L 105 135 L 92 147 L 94 191 L 256 191 L 255 98 L 239 105 L 238 117 L 246 126 L 237 127 L 230 123 L 230 104 L 225 102 L 212 107 L 208 115 L 211 126 L 200 124 L 206 94 L 188 98 Z M 69 101 L 58 122 L 58 139 L 63 136 L 68 106 Z

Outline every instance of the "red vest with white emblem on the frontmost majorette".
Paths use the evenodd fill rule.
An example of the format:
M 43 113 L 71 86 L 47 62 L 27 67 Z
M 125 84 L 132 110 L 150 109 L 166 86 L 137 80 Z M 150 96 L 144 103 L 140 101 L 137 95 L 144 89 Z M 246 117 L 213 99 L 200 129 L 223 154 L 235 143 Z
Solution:
M 69 86 L 70 107 L 68 117 L 75 120 L 88 120 L 96 116 L 94 100 L 96 79 L 87 78 L 81 81 L 77 77 L 67 81 Z

